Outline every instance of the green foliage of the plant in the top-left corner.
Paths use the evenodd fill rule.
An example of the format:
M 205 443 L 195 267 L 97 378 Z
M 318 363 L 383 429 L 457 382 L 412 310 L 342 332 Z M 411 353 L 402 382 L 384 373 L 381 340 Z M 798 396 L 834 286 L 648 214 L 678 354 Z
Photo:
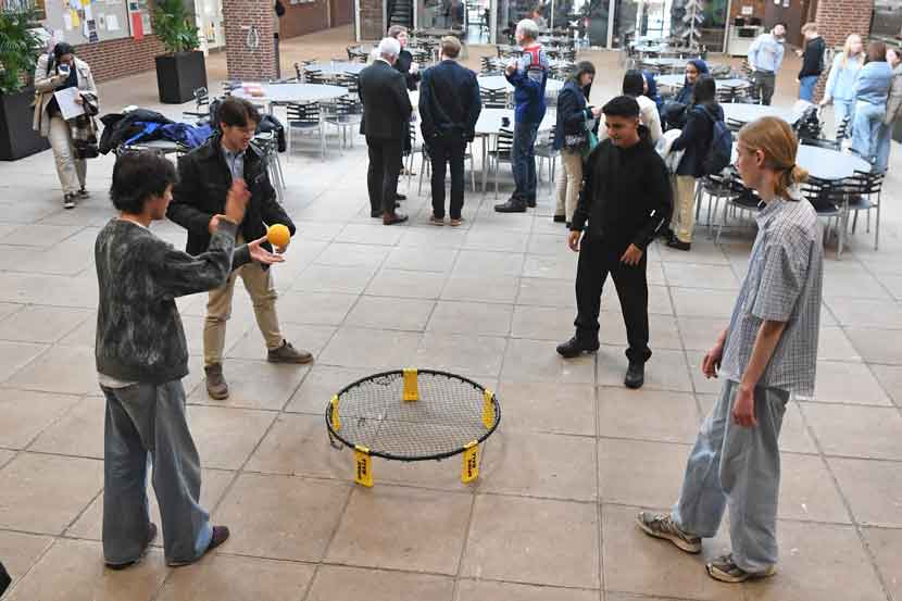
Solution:
M 33 32 L 36 13 L 0 11 L 0 93 L 9 95 L 30 83 L 43 43 Z

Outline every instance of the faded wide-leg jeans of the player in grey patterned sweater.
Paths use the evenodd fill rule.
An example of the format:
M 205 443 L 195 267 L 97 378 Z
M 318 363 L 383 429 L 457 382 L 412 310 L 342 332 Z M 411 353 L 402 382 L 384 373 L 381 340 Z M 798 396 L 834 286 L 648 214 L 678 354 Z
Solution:
M 103 435 L 103 555 L 107 563 L 138 560 L 147 548 L 150 513 L 147 471 L 160 505 L 166 563 L 203 555 L 213 529 L 200 506 L 200 458 L 185 416 L 181 380 L 126 388 L 101 386 Z M 149 461 L 150 460 L 150 461 Z

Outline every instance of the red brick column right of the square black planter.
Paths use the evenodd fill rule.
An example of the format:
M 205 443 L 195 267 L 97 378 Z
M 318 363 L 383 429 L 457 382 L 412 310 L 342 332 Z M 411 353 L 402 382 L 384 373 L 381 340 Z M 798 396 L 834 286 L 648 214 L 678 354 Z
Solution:
M 223 0 L 229 79 L 266 80 L 276 76 L 273 0 Z M 254 42 L 255 47 L 248 42 Z

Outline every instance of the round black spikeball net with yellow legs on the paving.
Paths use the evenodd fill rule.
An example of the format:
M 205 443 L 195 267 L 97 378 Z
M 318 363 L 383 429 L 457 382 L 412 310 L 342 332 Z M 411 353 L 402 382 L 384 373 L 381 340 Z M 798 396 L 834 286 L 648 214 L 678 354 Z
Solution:
M 333 446 L 354 450 L 354 481 L 373 486 L 373 458 L 442 460 L 463 454 L 461 480 L 479 476 L 479 445 L 498 428 L 491 390 L 434 370 L 396 370 L 359 379 L 331 398 L 326 428 Z

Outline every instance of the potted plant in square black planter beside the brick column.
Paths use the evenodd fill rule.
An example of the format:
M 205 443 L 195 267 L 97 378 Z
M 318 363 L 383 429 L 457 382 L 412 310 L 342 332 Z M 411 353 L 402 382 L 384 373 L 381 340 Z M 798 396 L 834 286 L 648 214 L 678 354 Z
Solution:
M 160 102 L 187 102 L 196 89 L 206 87 L 206 65 L 203 52 L 198 50 L 195 17 L 185 10 L 183 0 L 156 0 L 152 25 L 167 52 L 155 59 Z

